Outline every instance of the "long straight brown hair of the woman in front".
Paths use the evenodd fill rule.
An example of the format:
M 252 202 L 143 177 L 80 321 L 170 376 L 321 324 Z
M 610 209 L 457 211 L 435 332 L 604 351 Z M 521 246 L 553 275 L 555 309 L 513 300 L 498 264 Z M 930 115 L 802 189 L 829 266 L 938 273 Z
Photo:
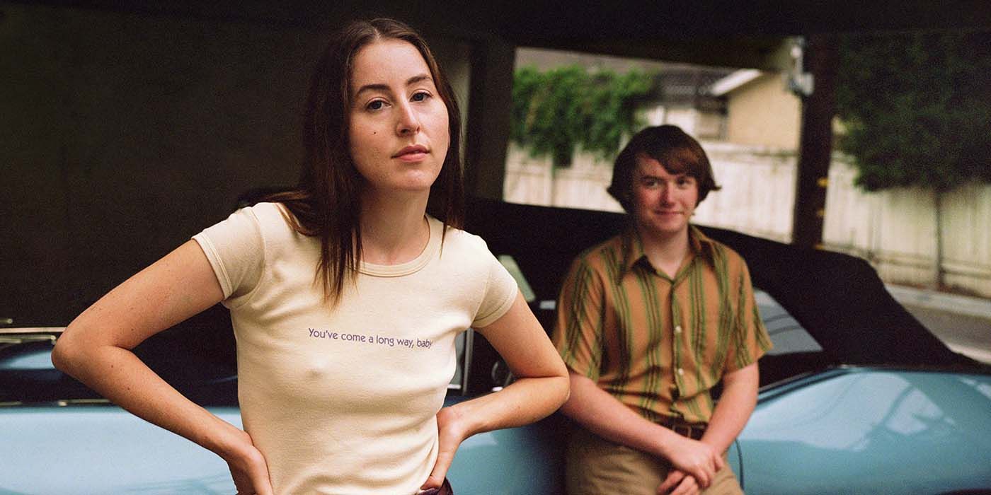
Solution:
M 320 238 L 314 283 L 321 283 L 324 298 L 332 305 L 339 300 L 345 281 L 354 281 L 362 258 L 362 178 L 348 151 L 352 63 L 358 50 L 387 39 L 402 40 L 419 50 L 447 106 L 450 147 L 430 186 L 427 212 L 444 222 L 445 233 L 448 226 L 460 228 L 464 222 L 461 114 L 450 82 L 423 38 L 405 24 L 391 19 L 349 23 L 331 38 L 310 81 L 299 184 L 265 198 L 285 206 L 291 214 L 286 219 L 296 232 Z

